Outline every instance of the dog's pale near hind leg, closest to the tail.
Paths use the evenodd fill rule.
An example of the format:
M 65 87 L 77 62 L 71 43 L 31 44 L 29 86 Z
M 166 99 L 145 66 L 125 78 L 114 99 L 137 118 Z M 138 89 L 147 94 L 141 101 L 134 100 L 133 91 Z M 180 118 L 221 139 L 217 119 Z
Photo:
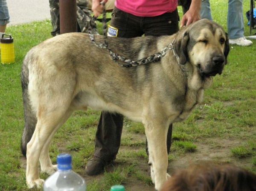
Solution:
M 41 157 L 41 160 L 46 159 L 47 165 L 49 165 L 49 155 L 47 157 L 45 152 L 49 150 L 49 142 L 53 137 L 53 134 L 60 127 L 59 124 L 63 123 L 63 119 L 67 118 L 66 112 L 67 108 L 63 108 L 65 104 L 55 103 L 54 106 L 51 105 L 52 109 L 47 107 L 42 107 L 43 112 L 38 109 L 38 123 L 36 124 L 34 134 L 27 144 L 27 168 L 26 168 L 26 181 L 29 188 L 32 187 L 41 187 L 44 183 L 44 180 L 39 178 L 38 172 L 38 160 L 41 155 L 41 151 L 44 148 L 45 144 L 48 144 L 44 148 L 44 154 Z M 47 109 L 46 109 L 47 108 Z M 44 166 L 45 167 L 45 166 Z

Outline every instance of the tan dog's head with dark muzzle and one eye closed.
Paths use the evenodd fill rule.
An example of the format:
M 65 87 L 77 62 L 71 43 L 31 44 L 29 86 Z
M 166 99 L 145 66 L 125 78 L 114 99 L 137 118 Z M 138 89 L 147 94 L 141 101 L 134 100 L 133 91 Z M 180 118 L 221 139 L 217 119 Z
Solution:
M 180 64 L 191 63 L 204 77 L 222 73 L 230 48 L 228 35 L 220 25 L 207 19 L 198 20 L 184 27 L 175 41 Z

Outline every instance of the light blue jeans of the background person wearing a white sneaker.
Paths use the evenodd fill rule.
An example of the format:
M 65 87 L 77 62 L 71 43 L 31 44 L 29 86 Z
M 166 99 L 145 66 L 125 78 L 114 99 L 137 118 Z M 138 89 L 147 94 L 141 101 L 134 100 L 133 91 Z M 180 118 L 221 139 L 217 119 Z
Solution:
M 202 0 L 201 17 L 212 20 L 209 0 Z M 228 0 L 227 33 L 230 39 L 244 37 L 243 0 Z

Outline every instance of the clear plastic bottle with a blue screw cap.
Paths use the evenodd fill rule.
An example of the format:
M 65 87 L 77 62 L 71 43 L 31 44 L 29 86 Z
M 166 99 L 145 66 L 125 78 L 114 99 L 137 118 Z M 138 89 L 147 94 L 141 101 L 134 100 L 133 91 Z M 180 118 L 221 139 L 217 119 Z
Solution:
M 44 191 L 86 191 L 84 179 L 72 171 L 70 154 L 59 154 L 57 164 L 58 171 L 45 180 Z

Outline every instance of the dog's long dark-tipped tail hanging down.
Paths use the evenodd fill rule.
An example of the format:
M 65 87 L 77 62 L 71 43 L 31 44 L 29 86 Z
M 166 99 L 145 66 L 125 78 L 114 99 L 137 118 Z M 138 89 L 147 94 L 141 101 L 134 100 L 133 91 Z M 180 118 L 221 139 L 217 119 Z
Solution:
M 35 125 L 37 123 L 37 118 L 35 111 L 32 110 L 32 106 L 29 99 L 28 93 L 28 86 L 29 86 L 29 64 L 30 56 L 29 54 L 26 55 L 25 59 L 23 60 L 23 65 L 21 67 L 21 87 L 22 87 L 22 97 L 23 97 L 23 109 L 24 109 L 24 118 L 25 118 L 25 125 L 23 129 L 23 135 L 21 137 L 21 152 L 24 157 L 26 157 L 26 149 L 27 143 L 31 140 L 31 137 L 35 131 Z

